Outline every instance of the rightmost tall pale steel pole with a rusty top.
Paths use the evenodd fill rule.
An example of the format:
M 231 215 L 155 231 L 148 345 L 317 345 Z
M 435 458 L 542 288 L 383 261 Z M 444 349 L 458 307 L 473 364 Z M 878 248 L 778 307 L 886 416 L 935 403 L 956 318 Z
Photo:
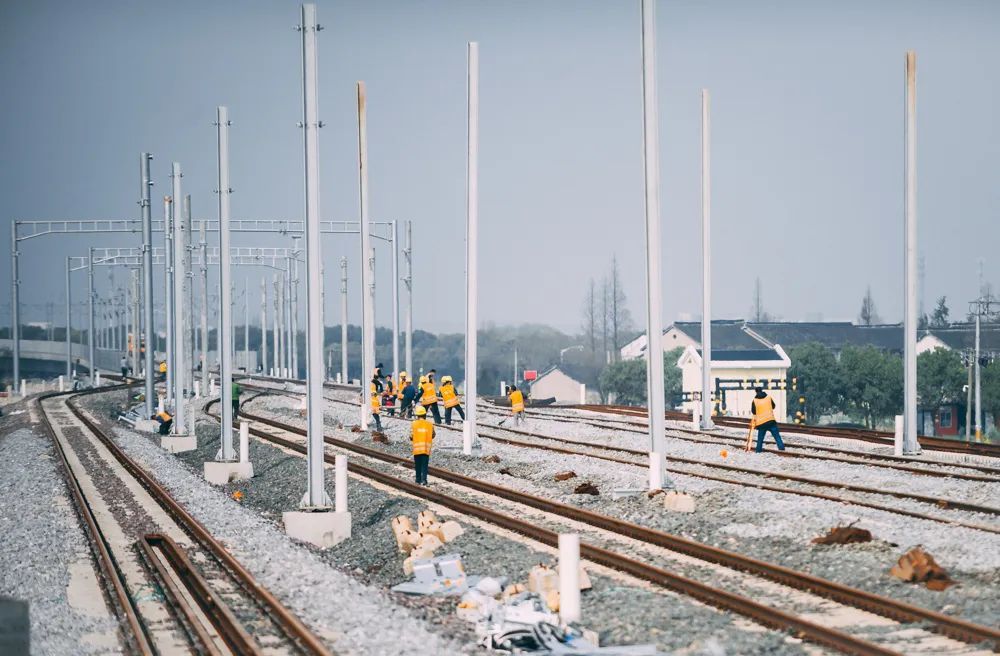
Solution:
M 903 273 L 906 297 L 903 304 L 903 453 L 920 453 L 917 442 L 917 55 L 906 53 L 905 108 L 905 223 Z

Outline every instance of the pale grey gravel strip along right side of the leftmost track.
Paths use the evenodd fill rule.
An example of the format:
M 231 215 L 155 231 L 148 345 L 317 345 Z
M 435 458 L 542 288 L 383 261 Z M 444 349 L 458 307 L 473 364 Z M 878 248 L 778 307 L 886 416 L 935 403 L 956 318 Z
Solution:
M 108 419 L 122 402 L 123 395 L 113 393 L 87 398 L 83 404 L 102 421 L 113 425 Z M 202 423 L 205 427 L 201 431 L 210 430 L 207 422 Z M 226 490 L 205 482 L 202 463 L 214 458 L 217 439 L 214 445 L 203 445 L 199 451 L 184 454 L 188 458 L 185 463 L 164 452 L 151 435 L 119 426 L 114 428 L 114 434 L 132 458 L 153 473 L 174 498 L 226 544 L 264 587 L 328 640 L 336 653 L 422 655 L 466 651 L 466 645 L 432 632 L 426 622 L 393 604 L 380 591 L 330 567 L 319 552 L 284 534 L 279 526 L 280 511 L 295 507 L 304 491 L 305 466 L 301 459 L 295 459 L 289 467 L 289 473 L 298 481 L 297 490 L 287 490 L 295 502 L 283 500 L 280 507 L 272 509 L 273 516 L 267 517 L 237 503 Z M 256 455 L 256 450 L 253 453 Z M 288 459 L 283 454 L 282 457 Z M 261 478 L 281 470 L 277 467 L 268 472 L 267 464 L 261 465 L 258 472 Z M 270 489 L 267 494 L 271 494 Z

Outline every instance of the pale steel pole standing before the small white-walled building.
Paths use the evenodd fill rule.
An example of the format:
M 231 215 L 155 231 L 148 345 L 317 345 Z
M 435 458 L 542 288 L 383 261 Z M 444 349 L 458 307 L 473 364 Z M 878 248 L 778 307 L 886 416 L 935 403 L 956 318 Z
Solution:
M 708 89 L 701 90 L 701 427 L 712 422 L 712 161 Z

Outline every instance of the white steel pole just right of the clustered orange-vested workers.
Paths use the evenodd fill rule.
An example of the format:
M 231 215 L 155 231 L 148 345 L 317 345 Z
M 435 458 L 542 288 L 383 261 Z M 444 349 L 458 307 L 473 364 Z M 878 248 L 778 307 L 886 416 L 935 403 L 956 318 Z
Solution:
M 468 45 L 465 176 L 465 421 L 462 453 L 472 455 L 476 432 L 476 366 L 479 326 L 479 43 Z

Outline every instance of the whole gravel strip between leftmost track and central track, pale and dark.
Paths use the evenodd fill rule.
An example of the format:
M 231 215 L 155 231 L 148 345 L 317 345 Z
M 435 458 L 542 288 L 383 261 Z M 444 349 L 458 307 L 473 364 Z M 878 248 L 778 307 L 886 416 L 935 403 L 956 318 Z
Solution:
M 288 401 L 297 407 L 296 401 Z M 101 412 L 102 401 L 88 399 L 87 403 L 95 413 Z M 106 416 L 110 416 L 108 409 L 105 407 Z M 175 456 L 163 453 L 150 437 L 124 429 L 116 432 L 130 455 L 143 461 L 303 620 L 333 635 L 348 632 L 347 638 L 338 637 L 333 642 L 338 653 L 482 653 L 473 644 L 471 625 L 454 614 L 456 599 L 385 591 L 406 579 L 403 555 L 397 552 L 389 520 L 398 514 L 415 519 L 427 507 L 426 502 L 352 479 L 349 507 L 354 535 L 319 552 L 293 545 L 280 529 L 281 512 L 294 508 L 304 492 L 306 470 L 301 456 L 252 440 L 250 454 L 256 476 L 221 489 L 206 489 L 209 486 L 201 480 L 200 469 L 219 447 L 214 420 L 199 422 L 197 450 Z M 327 483 L 332 496 L 332 475 Z M 236 491 L 243 495 L 241 504 L 231 499 Z M 522 540 L 497 535 L 462 517 L 456 519 L 466 533 L 448 545 L 453 549 L 439 553 L 460 553 L 470 574 L 524 581 L 535 564 L 555 562 L 551 553 L 531 548 Z M 294 581 L 282 573 L 288 563 L 298 577 Z M 599 631 L 602 644 L 656 642 L 667 653 L 683 654 L 718 653 L 718 645 L 725 645 L 726 653 L 733 654 L 816 651 L 815 647 L 804 649 L 784 634 L 748 625 L 742 618 L 686 597 L 616 578 L 596 574 L 592 578 L 594 589 L 583 595 L 583 614 L 586 625 Z M 343 599 L 344 591 L 358 594 Z

